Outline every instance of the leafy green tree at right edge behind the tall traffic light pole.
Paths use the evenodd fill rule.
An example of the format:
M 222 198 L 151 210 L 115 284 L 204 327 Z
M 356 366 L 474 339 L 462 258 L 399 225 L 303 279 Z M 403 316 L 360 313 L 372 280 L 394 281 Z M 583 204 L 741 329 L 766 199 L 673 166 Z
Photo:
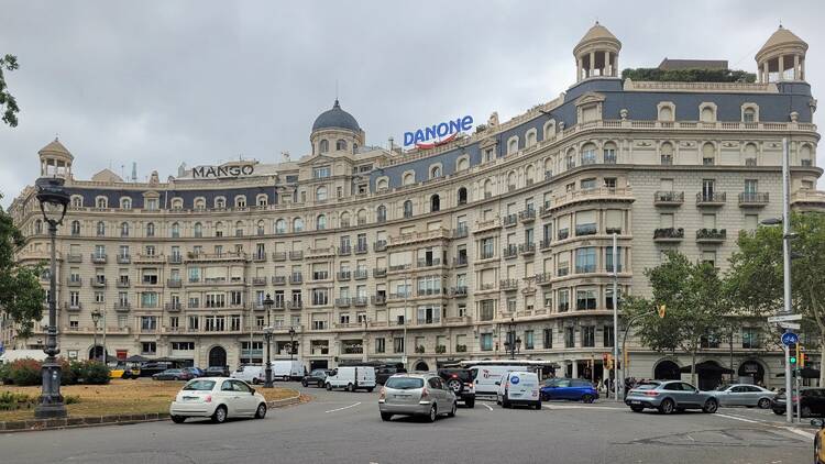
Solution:
M 793 213 L 791 230 L 791 305 L 803 316 L 802 331 L 816 338 L 825 360 L 825 214 Z M 760 227 L 739 234 L 730 257 L 727 292 L 732 302 L 755 317 L 783 308 L 782 228 Z M 820 369 L 820 385 L 825 371 Z

